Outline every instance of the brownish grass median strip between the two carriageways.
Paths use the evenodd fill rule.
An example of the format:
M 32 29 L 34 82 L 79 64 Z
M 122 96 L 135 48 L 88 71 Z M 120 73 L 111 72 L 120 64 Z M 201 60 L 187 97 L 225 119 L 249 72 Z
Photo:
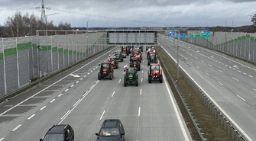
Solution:
M 167 81 L 169 82 L 170 88 L 173 91 L 173 95 L 180 107 L 180 111 L 186 122 L 186 126 L 190 130 L 190 135 L 194 141 L 202 140 L 200 139 L 199 133 L 197 132 L 196 127 L 194 127 L 193 122 L 190 119 L 190 115 L 187 113 L 186 108 L 183 106 L 180 96 L 178 95 L 177 90 L 167 73 L 167 71 L 170 72 L 170 74 L 174 76 L 174 79 L 177 79 L 177 67 L 173 61 L 171 61 L 170 56 L 160 46 L 157 46 L 156 50 L 157 56 L 161 57 L 160 63 L 164 63 L 167 66 L 167 70 L 163 67 L 164 74 L 167 76 Z M 177 85 L 179 86 L 187 104 L 190 106 L 191 111 L 196 117 L 196 120 L 198 120 L 200 128 L 202 128 L 203 133 L 206 134 L 206 138 L 210 141 L 232 141 L 232 137 L 228 135 L 227 130 L 221 126 L 217 118 L 215 118 L 214 115 L 212 115 L 209 109 L 205 106 L 205 104 L 203 104 L 199 96 L 195 91 L 193 91 L 193 88 L 190 87 L 182 75 L 180 75 L 180 79 L 177 82 Z

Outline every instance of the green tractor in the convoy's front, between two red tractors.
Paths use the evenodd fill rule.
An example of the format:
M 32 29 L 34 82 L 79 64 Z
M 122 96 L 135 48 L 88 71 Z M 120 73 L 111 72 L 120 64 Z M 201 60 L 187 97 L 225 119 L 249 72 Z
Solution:
M 138 69 L 128 68 L 125 70 L 124 86 L 135 85 L 138 86 Z

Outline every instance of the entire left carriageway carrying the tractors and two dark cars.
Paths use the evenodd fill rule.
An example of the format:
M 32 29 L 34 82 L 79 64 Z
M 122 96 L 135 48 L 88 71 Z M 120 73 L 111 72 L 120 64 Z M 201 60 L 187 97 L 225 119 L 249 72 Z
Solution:
M 0 141 L 39 140 L 58 123 L 70 124 L 76 141 L 96 140 L 95 133 L 107 118 L 122 120 L 126 141 L 192 141 L 166 80 L 161 84 L 147 82 L 146 56 L 138 72 L 138 87 L 123 85 L 122 67 L 128 58 L 119 62 L 113 80 L 97 80 L 98 64 L 109 53 L 112 51 L 2 104 Z

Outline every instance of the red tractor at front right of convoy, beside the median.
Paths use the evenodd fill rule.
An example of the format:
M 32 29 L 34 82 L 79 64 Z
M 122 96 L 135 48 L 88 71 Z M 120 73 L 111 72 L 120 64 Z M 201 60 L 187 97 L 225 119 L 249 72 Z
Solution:
M 163 82 L 163 71 L 160 69 L 159 63 L 151 63 L 148 70 L 148 82 L 151 83 L 152 80 L 157 80 L 160 83 Z

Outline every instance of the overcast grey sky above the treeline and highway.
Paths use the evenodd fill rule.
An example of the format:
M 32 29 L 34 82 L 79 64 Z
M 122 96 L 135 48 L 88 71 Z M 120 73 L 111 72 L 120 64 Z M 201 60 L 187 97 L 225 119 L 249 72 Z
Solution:
M 48 21 L 72 27 L 173 27 L 251 24 L 256 0 L 44 0 Z M 0 0 L 0 24 L 18 9 L 41 17 L 41 0 Z M 108 24 L 107 24 L 108 23 Z

